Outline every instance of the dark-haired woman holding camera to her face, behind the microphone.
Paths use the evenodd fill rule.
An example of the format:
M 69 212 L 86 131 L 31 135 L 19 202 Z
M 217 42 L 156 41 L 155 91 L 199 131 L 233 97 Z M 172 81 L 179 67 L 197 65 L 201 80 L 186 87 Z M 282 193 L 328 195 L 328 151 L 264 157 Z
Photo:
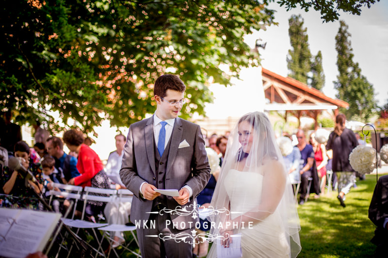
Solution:
M 37 182 L 27 180 L 28 178 L 23 172 L 12 171 L 9 167 L 4 167 L 0 177 L 0 185 L 3 193 L 9 196 L 0 196 L 3 199 L 2 206 L 36 210 L 38 209 L 39 200 L 36 198 L 35 193 L 40 194 L 43 188 L 40 164 L 33 163 L 30 156 L 30 147 L 25 141 L 16 142 L 14 153 L 21 165 L 32 172 Z

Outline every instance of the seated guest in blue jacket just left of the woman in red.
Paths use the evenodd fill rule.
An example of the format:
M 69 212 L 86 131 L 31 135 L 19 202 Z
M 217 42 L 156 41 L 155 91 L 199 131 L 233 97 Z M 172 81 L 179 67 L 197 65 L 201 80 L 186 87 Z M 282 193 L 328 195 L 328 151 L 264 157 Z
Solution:
M 67 183 L 70 179 L 80 175 L 77 169 L 77 158 L 64 152 L 64 144 L 61 138 L 49 137 L 46 141 L 46 148 L 49 155 L 55 159 L 55 167 L 62 171 L 65 176 L 62 179 L 63 183 Z

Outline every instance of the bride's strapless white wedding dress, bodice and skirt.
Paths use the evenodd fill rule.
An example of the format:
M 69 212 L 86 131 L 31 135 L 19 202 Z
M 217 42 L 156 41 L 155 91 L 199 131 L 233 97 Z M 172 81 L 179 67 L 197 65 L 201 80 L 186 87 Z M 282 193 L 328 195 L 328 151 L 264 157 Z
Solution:
M 225 178 L 225 189 L 230 197 L 231 212 L 248 212 L 259 206 L 263 176 L 257 172 L 241 172 L 236 169 L 229 170 Z M 231 213 L 231 219 L 242 213 Z M 281 217 L 277 210 L 263 221 L 252 218 L 254 225 L 248 228 L 234 230 L 241 233 L 241 247 L 243 258 L 261 257 L 290 257 L 290 245 L 281 225 Z M 237 232 L 238 230 L 238 232 Z M 208 257 L 217 257 L 216 244 L 213 244 Z

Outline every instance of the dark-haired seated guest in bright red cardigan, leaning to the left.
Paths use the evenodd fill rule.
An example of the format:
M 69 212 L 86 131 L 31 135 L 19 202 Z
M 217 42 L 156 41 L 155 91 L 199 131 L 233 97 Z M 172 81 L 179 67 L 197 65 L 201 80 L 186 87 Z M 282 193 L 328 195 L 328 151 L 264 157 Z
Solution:
M 82 132 L 76 129 L 68 130 L 63 139 L 67 148 L 78 154 L 77 169 L 81 173 L 81 175 L 70 179 L 68 184 L 109 189 L 110 180 L 104 171 L 104 166 L 97 153 L 83 144 Z M 103 209 L 103 202 L 87 201 L 85 212 L 93 220 Z

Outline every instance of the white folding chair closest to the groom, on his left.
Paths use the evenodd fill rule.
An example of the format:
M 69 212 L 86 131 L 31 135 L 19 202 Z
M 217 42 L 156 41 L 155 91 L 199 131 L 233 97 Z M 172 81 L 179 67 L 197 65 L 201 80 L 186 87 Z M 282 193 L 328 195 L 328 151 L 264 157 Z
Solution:
M 123 203 L 125 202 L 132 202 L 132 198 L 133 198 L 133 193 L 131 191 L 129 191 L 128 189 L 119 189 L 117 190 L 117 197 L 118 197 L 118 201 L 119 201 L 119 205 L 122 205 Z M 136 238 L 136 235 L 134 234 L 134 231 L 136 230 L 136 227 L 135 226 L 126 226 L 126 225 L 118 225 L 118 224 L 111 224 L 109 226 L 106 226 L 106 227 L 101 227 L 101 228 L 98 228 L 99 230 L 102 230 L 104 232 L 104 237 L 106 237 L 111 245 L 113 244 L 113 238 L 111 236 L 109 236 L 109 232 L 110 231 L 130 231 L 133 239 L 129 242 L 129 243 L 125 243 L 125 244 L 120 244 L 125 250 L 131 252 L 132 254 L 134 254 L 135 256 L 137 257 L 141 257 L 140 256 L 140 247 L 139 247 L 139 242 Z M 132 241 L 135 241 L 136 244 L 137 244 L 137 247 L 139 247 L 139 252 L 136 253 L 134 252 L 133 250 L 130 250 L 128 248 L 128 246 L 130 245 L 130 243 L 132 243 Z M 113 249 L 113 252 L 115 253 L 116 257 L 119 257 L 119 255 L 117 254 L 116 250 Z M 109 257 L 109 254 L 108 254 L 108 257 Z

